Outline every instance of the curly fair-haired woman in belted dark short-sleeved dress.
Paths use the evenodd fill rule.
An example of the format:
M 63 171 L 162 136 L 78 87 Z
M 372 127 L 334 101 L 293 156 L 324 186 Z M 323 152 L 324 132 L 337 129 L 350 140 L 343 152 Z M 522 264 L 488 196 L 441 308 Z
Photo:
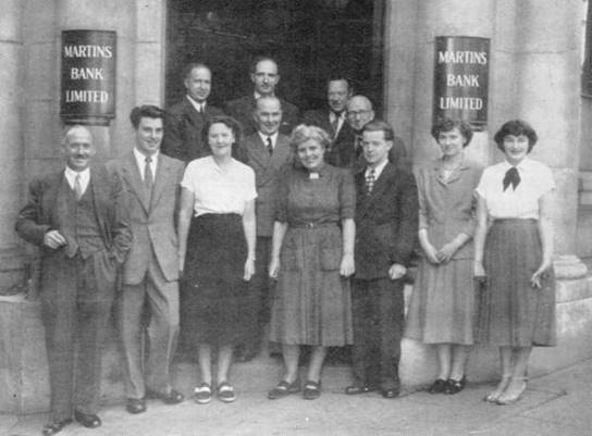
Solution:
M 324 163 L 329 144 L 323 129 L 297 126 L 292 134 L 297 164 L 279 187 L 270 340 L 282 344 L 285 373 L 270 399 L 300 390 L 300 345 L 312 346 L 304 398 L 314 399 L 326 347 L 353 342 L 347 277 L 354 273 L 356 191 L 349 171 Z

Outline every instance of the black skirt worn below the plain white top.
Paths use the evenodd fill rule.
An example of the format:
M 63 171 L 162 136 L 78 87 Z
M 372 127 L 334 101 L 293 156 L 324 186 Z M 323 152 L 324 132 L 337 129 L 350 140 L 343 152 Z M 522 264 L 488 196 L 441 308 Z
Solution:
M 237 214 L 194 217 L 181 287 L 186 341 L 234 345 L 255 323 L 256 295 L 243 279 L 247 242 Z

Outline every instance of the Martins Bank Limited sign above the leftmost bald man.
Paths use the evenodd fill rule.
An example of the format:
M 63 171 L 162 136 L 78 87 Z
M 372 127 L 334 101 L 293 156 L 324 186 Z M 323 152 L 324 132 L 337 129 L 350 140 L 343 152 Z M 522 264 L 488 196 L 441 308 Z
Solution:
M 60 114 L 65 123 L 108 125 L 115 117 L 116 34 L 62 30 Z

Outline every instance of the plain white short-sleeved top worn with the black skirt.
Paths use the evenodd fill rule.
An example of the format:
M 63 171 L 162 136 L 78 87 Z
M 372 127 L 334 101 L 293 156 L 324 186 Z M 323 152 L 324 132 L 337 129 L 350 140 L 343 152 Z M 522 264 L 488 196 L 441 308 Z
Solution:
M 233 159 L 231 165 L 222 170 L 211 155 L 189 162 L 181 186 L 194 194 L 195 216 L 205 213 L 243 215 L 247 202 L 257 197 L 255 172 L 250 166 Z

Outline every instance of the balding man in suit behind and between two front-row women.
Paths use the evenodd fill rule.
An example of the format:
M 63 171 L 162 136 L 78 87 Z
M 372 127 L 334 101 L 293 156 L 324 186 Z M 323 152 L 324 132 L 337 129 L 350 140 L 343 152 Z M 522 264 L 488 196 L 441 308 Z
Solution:
M 282 123 L 282 103 L 278 97 L 263 96 L 256 102 L 252 114 L 257 132 L 245 138 L 243 148 L 247 154 L 247 164 L 255 171 L 257 199 L 257 253 L 255 257 L 255 276 L 251 286 L 256 292 L 258 324 L 251 332 L 251 340 L 236 351 L 238 361 L 248 361 L 259 351 L 263 336 L 263 326 L 270 316 L 270 283 L 268 266 L 271 252 L 271 236 L 275 220 L 275 190 L 282 167 L 292 163 L 293 152 L 289 138 L 279 129 Z

